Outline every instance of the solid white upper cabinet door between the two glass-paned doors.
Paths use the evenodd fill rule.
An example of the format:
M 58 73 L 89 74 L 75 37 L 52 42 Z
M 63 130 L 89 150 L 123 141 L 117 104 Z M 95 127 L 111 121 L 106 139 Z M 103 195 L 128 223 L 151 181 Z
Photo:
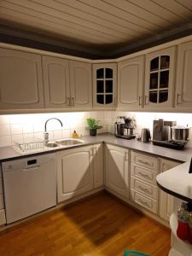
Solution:
M 144 56 L 118 64 L 118 108 L 142 108 L 143 106 Z

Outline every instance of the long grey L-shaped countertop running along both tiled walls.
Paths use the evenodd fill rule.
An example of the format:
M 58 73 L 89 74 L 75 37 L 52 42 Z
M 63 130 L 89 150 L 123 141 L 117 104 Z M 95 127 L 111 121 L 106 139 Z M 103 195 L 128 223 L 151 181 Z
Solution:
M 23 157 L 34 156 L 38 154 L 49 154 L 60 150 L 66 150 L 69 148 L 79 148 L 82 146 L 96 144 L 96 143 L 110 143 L 119 147 L 134 149 L 147 154 L 154 154 L 155 156 L 160 156 L 169 160 L 176 160 L 178 162 L 187 162 L 192 157 L 192 148 L 187 146 L 182 150 L 164 148 L 160 146 L 155 146 L 152 143 L 142 143 L 134 140 L 126 140 L 123 138 L 114 137 L 112 134 L 101 134 L 96 137 L 85 136 L 81 138 L 84 140 L 83 144 L 60 147 L 60 148 L 48 148 L 46 151 L 35 152 L 30 154 L 19 154 L 12 147 L 0 147 L 0 162 L 7 160 L 15 160 Z

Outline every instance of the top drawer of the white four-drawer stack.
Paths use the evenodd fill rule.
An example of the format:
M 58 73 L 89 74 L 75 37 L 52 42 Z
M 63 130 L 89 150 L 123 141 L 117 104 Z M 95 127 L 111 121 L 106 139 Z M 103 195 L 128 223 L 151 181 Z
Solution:
M 143 166 L 158 172 L 158 159 L 148 154 L 140 154 L 135 151 L 131 151 L 131 163 Z

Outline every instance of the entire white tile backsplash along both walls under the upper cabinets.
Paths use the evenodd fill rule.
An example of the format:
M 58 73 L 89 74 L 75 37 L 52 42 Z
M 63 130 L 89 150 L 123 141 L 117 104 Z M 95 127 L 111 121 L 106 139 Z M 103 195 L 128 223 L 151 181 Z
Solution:
M 58 121 L 50 120 L 47 125 L 50 140 L 70 137 L 73 130 L 83 136 L 88 135 L 89 130 L 86 129 L 86 119 L 89 117 L 101 120 L 102 129 L 98 130 L 98 133 L 113 133 L 114 122 L 119 115 L 136 119 L 137 135 L 141 134 L 142 128 L 149 128 L 152 134 L 154 119 L 176 120 L 177 125 L 189 125 L 189 127 L 192 127 L 192 113 L 96 111 L 0 115 L 0 147 L 12 145 L 15 141 L 20 143 L 28 142 L 34 137 L 43 139 L 44 123 L 47 119 L 53 117 L 61 119 L 63 127 Z M 192 131 L 190 132 L 188 146 L 192 147 Z

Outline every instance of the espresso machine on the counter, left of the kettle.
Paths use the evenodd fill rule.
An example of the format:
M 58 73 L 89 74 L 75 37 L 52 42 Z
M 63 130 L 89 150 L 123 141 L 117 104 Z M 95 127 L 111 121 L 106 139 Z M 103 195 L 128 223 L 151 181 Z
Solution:
M 114 135 L 128 140 L 134 139 L 135 124 L 131 118 L 125 116 L 118 116 L 114 124 Z

